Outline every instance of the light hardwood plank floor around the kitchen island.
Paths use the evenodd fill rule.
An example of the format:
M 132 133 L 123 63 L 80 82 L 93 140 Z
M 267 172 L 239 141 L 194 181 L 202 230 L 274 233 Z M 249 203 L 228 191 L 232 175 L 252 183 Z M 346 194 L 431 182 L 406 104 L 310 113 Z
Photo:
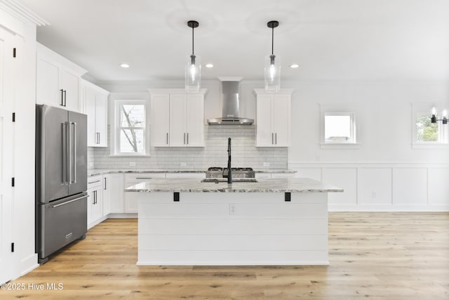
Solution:
M 26 289 L 0 290 L 0 299 L 449 299 L 449 213 L 332 212 L 330 266 L 136 260 L 137 220 L 109 219 L 10 282 Z M 62 289 L 48 290 L 51 283 Z

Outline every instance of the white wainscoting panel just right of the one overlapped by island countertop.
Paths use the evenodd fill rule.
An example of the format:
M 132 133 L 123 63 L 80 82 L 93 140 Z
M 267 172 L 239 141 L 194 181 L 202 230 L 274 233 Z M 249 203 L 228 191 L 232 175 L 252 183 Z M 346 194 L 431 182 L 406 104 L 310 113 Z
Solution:
M 360 168 L 357 184 L 358 204 L 391 204 L 391 169 Z

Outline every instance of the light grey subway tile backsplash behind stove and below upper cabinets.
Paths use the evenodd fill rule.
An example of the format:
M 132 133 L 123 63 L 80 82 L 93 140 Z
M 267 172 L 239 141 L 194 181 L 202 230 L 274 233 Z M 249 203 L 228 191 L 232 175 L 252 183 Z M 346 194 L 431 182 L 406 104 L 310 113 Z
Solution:
M 88 148 L 88 168 L 198 170 L 226 167 L 227 138 L 232 138 L 232 167 L 287 169 L 288 148 L 256 148 L 254 125 L 204 126 L 204 137 L 203 148 L 151 147 L 149 157 L 110 157 L 109 147 Z

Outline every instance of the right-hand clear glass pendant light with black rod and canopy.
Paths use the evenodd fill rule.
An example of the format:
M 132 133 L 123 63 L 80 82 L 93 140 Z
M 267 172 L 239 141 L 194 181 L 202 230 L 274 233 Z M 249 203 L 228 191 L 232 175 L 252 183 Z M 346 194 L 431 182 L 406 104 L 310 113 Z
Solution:
M 277 93 L 281 88 L 281 60 L 274 55 L 274 28 L 278 21 L 269 21 L 267 26 L 272 29 L 272 54 L 265 56 L 265 91 Z

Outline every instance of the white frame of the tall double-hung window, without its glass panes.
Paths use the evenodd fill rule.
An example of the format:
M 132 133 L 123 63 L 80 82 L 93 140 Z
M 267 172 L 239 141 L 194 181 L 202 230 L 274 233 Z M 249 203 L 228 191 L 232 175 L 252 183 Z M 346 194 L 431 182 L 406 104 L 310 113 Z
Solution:
M 120 151 L 120 134 L 122 129 L 130 129 L 131 127 L 123 127 L 121 121 L 121 105 L 144 105 L 145 126 L 135 127 L 143 130 L 143 152 L 121 152 Z M 114 157 L 145 157 L 149 156 L 149 105 L 144 99 L 120 99 L 114 100 L 113 106 L 113 124 L 111 124 L 111 153 Z

